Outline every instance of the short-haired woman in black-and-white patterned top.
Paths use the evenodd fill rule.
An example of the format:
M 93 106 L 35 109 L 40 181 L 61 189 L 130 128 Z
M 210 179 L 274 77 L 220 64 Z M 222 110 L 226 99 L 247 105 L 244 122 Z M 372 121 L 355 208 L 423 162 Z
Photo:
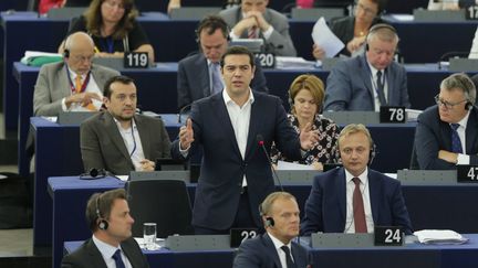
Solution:
M 298 133 L 308 127 L 319 132 L 319 141 L 306 151 L 305 158 L 299 161 L 301 164 L 312 165 L 315 170 L 323 170 L 324 163 L 335 163 L 339 159 L 336 156 L 339 127 L 320 115 L 324 95 L 323 82 L 310 74 L 298 76 L 289 88 L 291 114 L 288 119 L 292 127 Z M 271 148 L 271 160 L 273 163 L 279 160 L 289 161 L 276 146 Z

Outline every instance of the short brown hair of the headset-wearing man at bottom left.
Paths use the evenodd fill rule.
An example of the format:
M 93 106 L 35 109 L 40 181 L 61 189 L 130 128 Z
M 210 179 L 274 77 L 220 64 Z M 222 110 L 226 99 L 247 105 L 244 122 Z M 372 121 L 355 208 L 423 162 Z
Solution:
M 86 222 L 92 232 L 97 231 L 98 217 L 108 219 L 115 200 L 126 200 L 124 189 L 110 190 L 104 193 L 94 193 L 86 204 Z

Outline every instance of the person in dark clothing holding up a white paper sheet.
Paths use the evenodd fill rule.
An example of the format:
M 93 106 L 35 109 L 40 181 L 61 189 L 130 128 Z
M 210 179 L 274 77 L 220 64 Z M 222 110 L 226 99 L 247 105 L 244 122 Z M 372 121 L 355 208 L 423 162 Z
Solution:
M 341 54 L 350 56 L 364 43 L 374 24 L 383 22 L 380 14 L 385 9 L 386 0 L 357 0 L 354 15 L 332 20 L 330 29 L 345 44 Z M 325 52 L 319 45 L 313 45 L 312 54 L 316 60 L 325 57 Z

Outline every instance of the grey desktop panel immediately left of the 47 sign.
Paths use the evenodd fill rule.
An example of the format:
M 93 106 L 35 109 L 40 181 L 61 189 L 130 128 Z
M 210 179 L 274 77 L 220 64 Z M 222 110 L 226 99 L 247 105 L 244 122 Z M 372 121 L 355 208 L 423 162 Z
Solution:
M 407 185 L 449 185 L 457 184 L 456 170 L 398 170 L 397 179 Z

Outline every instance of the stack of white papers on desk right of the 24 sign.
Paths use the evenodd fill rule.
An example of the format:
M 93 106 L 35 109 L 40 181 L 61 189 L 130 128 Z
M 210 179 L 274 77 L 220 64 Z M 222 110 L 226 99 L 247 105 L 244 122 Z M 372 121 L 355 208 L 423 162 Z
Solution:
M 468 238 L 451 229 L 422 229 L 414 233 L 422 244 L 459 245 L 468 242 Z

